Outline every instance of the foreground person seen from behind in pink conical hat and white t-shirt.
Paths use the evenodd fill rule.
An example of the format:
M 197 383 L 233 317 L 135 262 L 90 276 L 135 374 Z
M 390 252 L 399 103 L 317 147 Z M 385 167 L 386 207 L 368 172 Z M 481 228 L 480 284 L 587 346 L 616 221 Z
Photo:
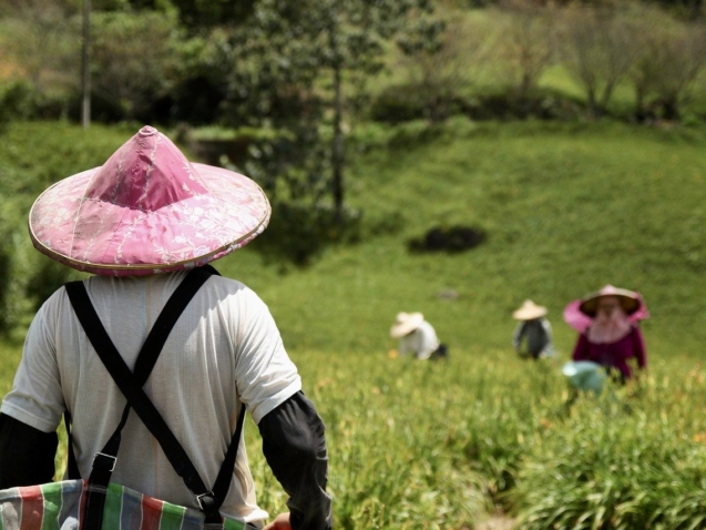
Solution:
M 12 390 L 1 407 L 0 488 L 51 482 L 55 431 L 68 411 L 72 444 L 66 480 L 79 478 L 78 472 L 90 482 L 108 471 L 111 485 L 196 510 L 206 522 L 225 516 L 241 521 L 237 528 L 331 528 L 324 424 L 301 393 L 297 368 L 267 306 L 245 285 L 206 265 L 260 234 L 269 214 L 269 203 L 253 181 L 190 163 L 150 126 L 104 165 L 39 196 L 30 212 L 34 246 L 94 275 L 59 288 L 29 328 Z M 195 294 L 176 313 L 150 374 L 136 363 L 137 357 L 143 360 L 145 337 L 160 327 L 163 320 L 157 318 L 168 318 L 167 300 L 180 298 L 194 277 L 202 284 L 190 287 Z M 76 302 L 81 299 L 83 304 Z M 86 326 L 91 320 L 84 318 L 93 309 L 95 326 Z M 95 347 L 94 337 L 100 343 L 101 336 L 95 328 L 104 328 L 109 346 Z M 104 355 L 115 359 L 114 350 L 116 365 L 126 373 L 104 360 Z M 174 442 L 163 442 L 171 438 L 163 429 L 155 434 L 156 424 L 144 419 L 151 407 Z M 268 524 L 267 512 L 257 506 L 242 431 L 236 436 L 245 410 L 259 429 L 267 463 L 289 496 L 289 512 Z M 121 424 L 123 414 L 126 424 Z M 115 432 L 116 459 L 106 456 L 106 441 Z M 177 460 L 191 459 L 194 473 L 174 470 L 167 452 L 178 446 L 186 456 Z M 111 450 L 116 453 L 117 447 Z M 223 462 L 229 455 L 237 457 L 228 469 Z M 101 467 L 106 461 L 114 467 L 112 478 L 111 469 Z M 158 528 L 158 518 L 150 527 L 145 517 L 143 529 Z

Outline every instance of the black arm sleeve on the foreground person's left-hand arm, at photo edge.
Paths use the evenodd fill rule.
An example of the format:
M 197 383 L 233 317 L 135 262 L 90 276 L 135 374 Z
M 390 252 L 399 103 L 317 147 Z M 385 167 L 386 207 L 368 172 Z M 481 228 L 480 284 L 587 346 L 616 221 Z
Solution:
M 51 482 L 58 445 L 57 432 L 0 414 L 0 489 Z

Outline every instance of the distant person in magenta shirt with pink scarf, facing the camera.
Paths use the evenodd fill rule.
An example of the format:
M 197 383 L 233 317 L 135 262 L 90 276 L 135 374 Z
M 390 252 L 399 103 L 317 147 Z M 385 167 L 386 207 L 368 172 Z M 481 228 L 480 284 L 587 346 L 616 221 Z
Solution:
M 633 291 L 606 285 L 564 309 L 564 319 L 580 330 L 574 360 L 592 360 L 625 381 L 631 363 L 647 366 L 645 343 L 637 322 L 648 316 L 645 303 Z

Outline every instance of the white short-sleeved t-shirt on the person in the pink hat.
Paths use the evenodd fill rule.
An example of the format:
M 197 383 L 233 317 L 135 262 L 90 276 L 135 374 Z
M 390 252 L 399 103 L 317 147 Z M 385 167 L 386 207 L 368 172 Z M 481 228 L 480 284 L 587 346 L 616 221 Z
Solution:
M 93 276 L 84 282 L 108 335 L 131 369 L 185 274 Z M 206 487 L 212 487 L 242 404 L 258 424 L 300 390 L 301 380 L 263 300 L 234 279 L 212 276 L 172 329 L 144 389 Z M 88 478 L 93 455 L 113 434 L 124 405 L 125 398 L 83 333 L 65 289 L 60 288 L 30 326 L 2 412 L 51 432 L 68 407 L 79 469 Z M 112 480 L 198 508 L 134 410 L 123 429 Z M 256 503 L 243 440 L 221 511 L 247 522 L 267 518 Z

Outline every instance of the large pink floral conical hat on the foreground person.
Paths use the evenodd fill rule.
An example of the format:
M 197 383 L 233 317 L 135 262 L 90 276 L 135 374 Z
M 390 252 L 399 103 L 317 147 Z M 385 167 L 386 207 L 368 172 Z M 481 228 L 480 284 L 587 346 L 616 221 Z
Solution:
M 250 179 L 192 163 L 144 126 L 102 166 L 45 190 L 30 211 L 34 246 L 95 274 L 127 276 L 212 262 L 260 234 L 270 206 Z

